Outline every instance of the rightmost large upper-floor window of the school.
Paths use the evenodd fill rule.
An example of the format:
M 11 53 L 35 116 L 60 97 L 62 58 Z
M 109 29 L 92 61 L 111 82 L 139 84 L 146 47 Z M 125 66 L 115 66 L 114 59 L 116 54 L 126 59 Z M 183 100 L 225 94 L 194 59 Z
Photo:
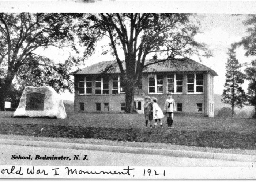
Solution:
M 202 73 L 188 74 L 188 93 L 201 93 L 203 92 L 203 77 Z

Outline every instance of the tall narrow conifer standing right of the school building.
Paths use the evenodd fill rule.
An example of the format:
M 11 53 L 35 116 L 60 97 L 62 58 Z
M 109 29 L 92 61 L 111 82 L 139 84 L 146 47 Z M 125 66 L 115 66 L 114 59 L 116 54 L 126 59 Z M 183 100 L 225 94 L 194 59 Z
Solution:
M 229 59 L 226 63 L 226 82 L 222 102 L 230 104 L 232 108 L 232 117 L 234 116 L 234 107 L 242 108 L 246 102 L 245 91 L 242 89 L 244 83 L 244 74 L 241 72 L 241 64 L 236 59 L 233 49 L 229 49 Z

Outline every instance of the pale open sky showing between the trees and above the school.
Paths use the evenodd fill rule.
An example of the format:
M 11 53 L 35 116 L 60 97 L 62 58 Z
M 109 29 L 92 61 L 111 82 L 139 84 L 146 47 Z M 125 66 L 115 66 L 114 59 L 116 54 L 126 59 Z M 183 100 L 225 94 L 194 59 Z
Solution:
M 212 51 L 212 57 L 201 57 L 202 62 L 200 62 L 197 56 L 192 56 L 191 59 L 200 62 L 217 72 L 218 76 L 214 78 L 214 94 L 222 94 L 224 88 L 223 85 L 225 83 L 225 63 L 228 59 L 227 52 L 232 43 L 240 41 L 242 37 L 246 36 L 246 27 L 242 24 L 246 16 L 232 16 L 230 14 L 199 14 L 198 17 L 201 23 L 200 31 L 202 33 L 197 34 L 195 39 L 207 44 L 208 48 Z M 111 55 L 101 55 L 101 46 L 107 42 L 108 39 L 99 42 L 95 54 L 86 60 L 83 67 L 101 61 L 114 60 L 114 57 Z M 49 56 L 49 58 L 52 58 L 55 61 L 61 62 L 67 59 L 69 55 L 83 56 L 83 47 L 79 47 L 79 50 L 79 55 L 70 52 L 68 49 L 57 50 L 57 48 L 38 50 L 38 52 L 42 55 Z M 245 57 L 244 53 L 245 51 L 243 48 L 238 48 L 236 50 L 236 56 L 240 63 L 249 62 L 252 59 Z M 123 58 L 121 57 L 121 59 Z M 243 85 L 245 91 L 247 91 L 247 84 L 248 82 L 245 82 Z M 68 100 L 74 100 L 74 95 L 68 92 L 61 95 Z

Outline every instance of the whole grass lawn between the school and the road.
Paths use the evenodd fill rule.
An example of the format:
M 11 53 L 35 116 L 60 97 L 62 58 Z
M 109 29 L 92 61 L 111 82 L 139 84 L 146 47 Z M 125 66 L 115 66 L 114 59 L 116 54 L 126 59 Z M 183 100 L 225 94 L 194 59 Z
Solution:
M 0 134 L 95 138 L 114 141 L 256 150 L 256 120 L 175 115 L 174 129 L 144 129 L 144 115 L 67 113 L 67 119 L 12 118 L 0 112 Z M 41 129 L 44 128 L 42 131 Z

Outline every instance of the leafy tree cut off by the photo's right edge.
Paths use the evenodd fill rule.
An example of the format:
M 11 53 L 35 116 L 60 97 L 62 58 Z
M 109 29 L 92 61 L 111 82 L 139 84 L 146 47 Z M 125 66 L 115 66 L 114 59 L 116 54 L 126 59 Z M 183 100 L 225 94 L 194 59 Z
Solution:
M 241 41 L 233 44 L 234 48 L 242 46 L 245 50 L 245 56 L 256 56 L 256 15 L 246 15 L 246 20 L 243 22 L 247 27 L 247 35 Z M 256 60 L 246 64 L 245 68 L 246 80 L 249 81 L 247 99 L 250 105 L 254 106 L 256 117 Z

